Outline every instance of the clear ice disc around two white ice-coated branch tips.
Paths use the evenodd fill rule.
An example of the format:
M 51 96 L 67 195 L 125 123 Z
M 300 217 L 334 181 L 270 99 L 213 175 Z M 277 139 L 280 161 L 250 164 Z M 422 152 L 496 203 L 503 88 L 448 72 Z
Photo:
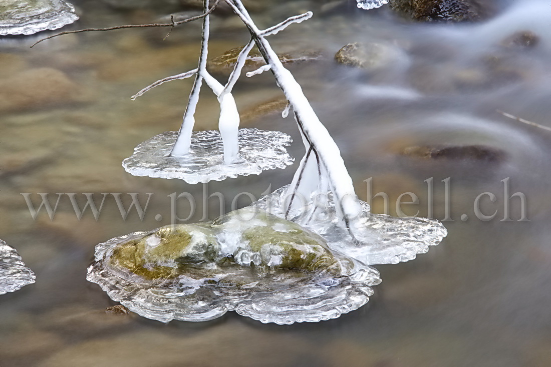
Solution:
M 123 167 L 134 176 L 181 179 L 197 184 L 258 175 L 263 170 L 285 168 L 294 161 L 285 149 L 292 139 L 279 131 L 240 129 L 239 157 L 232 164 L 224 163 L 224 147 L 218 131 L 194 132 L 190 153 L 185 156 L 170 155 L 176 137 L 177 132 L 165 132 L 139 144 L 134 154 L 123 161 Z

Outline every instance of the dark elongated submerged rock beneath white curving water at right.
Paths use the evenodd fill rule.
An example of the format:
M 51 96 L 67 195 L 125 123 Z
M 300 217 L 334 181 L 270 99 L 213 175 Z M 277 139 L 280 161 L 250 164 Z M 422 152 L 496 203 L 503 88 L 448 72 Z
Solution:
M 449 147 L 425 145 L 405 148 L 401 154 L 422 159 L 469 160 L 488 163 L 498 163 L 505 158 L 503 150 L 484 145 L 452 145 Z

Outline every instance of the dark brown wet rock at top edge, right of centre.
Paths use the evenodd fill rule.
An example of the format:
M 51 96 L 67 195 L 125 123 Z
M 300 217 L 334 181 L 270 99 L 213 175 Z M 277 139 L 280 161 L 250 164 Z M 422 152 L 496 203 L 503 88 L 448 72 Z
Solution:
M 487 9 L 477 0 L 390 0 L 391 7 L 414 20 L 473 21 Z

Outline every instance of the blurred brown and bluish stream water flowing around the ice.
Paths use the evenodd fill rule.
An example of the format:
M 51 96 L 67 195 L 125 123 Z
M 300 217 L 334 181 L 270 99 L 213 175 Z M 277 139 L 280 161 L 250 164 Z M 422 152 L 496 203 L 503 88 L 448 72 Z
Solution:
M 80 21 L 64 30 L 167 21 L 175 10 L 170 1 L 155 9 L 116 10 L 92 0 L 73 3 Z M 190 79 L 136 101 L 129 97 L 156 79 L 196 67 L 199 23 L 179 26 L 166 40 L 168 28 L 66 35 L 32 49 L 43 35 L 1 38 L 0 238 L 18 249 L 36 272 L 36 284 L 0 296 L 0 365 L 549 365 L 551 132 L 496 110 L 551 126 L 551 8 L 545 0 L 496 3 L 493 17 L 471 24 L 412 23 L 387 7 L 355 9 L 353 1 L 329 7 L 274 0 L 252 13 L 259 26 L 270 26 L 314 10 L 312 19 L 271 42 L 278 52 L 325 55 L 291 71 L 341 147 L 358 195 L 385 192 L 396 214 L 398 197 L 415 193 L 419 204 L 404 204 L 403 212 L 451 219 L 444 221 L 449 236 L 428 254 L 377 267 L 383 282 L 367 305 L 336 320 L 291 326 L 263 325 L 233 312 L 215 321 L 168 325 L 109 314 L 103 310 L 114 303 L 85 280 L 99 242 L 170 224 L 172 193 L 195 197 L 190 221 L 213 219 L 218 199 L 205 206 L 203 190 L 223 193 L 227 212 L 237 194 L 259 197 L 293 177 L 296 164 L 207 187 L 133 177 L 122 169 L 137 144 L 179 128 Z M 247 42 L 234 17 L 218 15 L 212 22 L 210 55 Z M 510 45 L 507 39 L 519 31 L 538 41 Z M 379 44 L 380 52 L 364 69 L 337 64 L 334 54 L 350 42 Z M 295 140 L 290 152 L 299 158 L 304 148 L 291 118 L 284 120 L 280 110 L 256 117 L 251 112 L 281 97 L 269 73 L 243 78 L 235 89 L 241 112 L 249 116 L 242 125 L 289 133 Z M 196 128 L 216 128 L 218 103 L 207 90 L 201 98 Z M 476 145 L 476 154 L 450 148 L 441 152 L 456 152 L 455 158 L 424 158 L 426 147 L 466 145 Z M 371 195 L 364 182 L 370 178 Z M 512 220 L 502 220 L 507 183 L 509 196 L 526 196 L 529 221 L 518 220 L 518 197 L 510 201 Z M 98 204 L 101 193 L 123 193 L 126 207 L 127 193 L 140 193 L 142 203 L 147 193 L 153 196 L 143 221 L 136 211 L 123 220 L 108 196 L 96 222 L 89 211 L 79 221 L 64 195 L 51 221 L 45 212 L 31 218 L 25 192 L 33 193 L 35 206 L 39 192 L 50 193 L 52 204 L 55 193 L 81 193 L 81 208 L 85 192 L 95 193 Z M 482 213 L 497 211 L 486 221 L 474 211 L 485 192 L 495 202 L 483 196 Z M 235 204 L 248 200 L 241 195 Z M 372 207 L 382 213 L 383 199 L 375 198 Z M 186 218 L 190 204 L 181 199 L 175 210 Z

